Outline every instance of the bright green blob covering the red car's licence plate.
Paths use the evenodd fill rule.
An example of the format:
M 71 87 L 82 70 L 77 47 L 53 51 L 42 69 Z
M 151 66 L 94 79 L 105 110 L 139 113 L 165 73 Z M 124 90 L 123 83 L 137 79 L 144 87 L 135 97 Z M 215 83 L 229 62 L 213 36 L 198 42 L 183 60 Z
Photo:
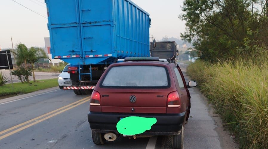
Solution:
M 117 131 L 124 135 L 142 134 L 156 123 L 156 118 L 126 117 L 121 119 L 117 125 Z

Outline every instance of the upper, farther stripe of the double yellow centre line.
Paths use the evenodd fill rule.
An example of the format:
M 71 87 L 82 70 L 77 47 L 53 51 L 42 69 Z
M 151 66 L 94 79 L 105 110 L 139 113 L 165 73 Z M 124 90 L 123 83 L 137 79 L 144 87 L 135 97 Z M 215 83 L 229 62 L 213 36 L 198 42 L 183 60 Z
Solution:
M 46 113 L 46 114 L 44 114 L 44 115 L 41 115 L 41 116 L 39 116 L 39 117 L 33 118 L 33 119 L 28 120 L 28 121 L 26 121 L 26 122 L 23 122 L 23 123 L 21 123 L 21 124 L 19 124 L 19 125 L 16 125 L 16 126 L 13 126 L 13 127 L 11 127 L 11 128 L 8 128 L 8 129 L 6 129 L 6 130 L 4 130 L 4 131 L 1 131 L 1 132 L 0 132 L 0 135 L 6 133 L 6 132 L 8 132 L 8 131 L 11 131 L 11 130 L 13 130 L 13 129 L 16 129 L 16 128 L 18 128 L 18 127 L 21 127 L 21 126 L 23 126 L 23 125 L 25 125 L 25 124 L 28 124 L 28 123 L 30 123 L 30 122 L 36 121 L 36 120 L 38 120 L 38 119 L 40 119 L 40 118 L 42 118 L 42 117 L 45 117 L 45 116 L 47 116 L 47 115 L 53 114 L 53 113 L 55 113 L 55 112 L 57 112 L 57 111 L 59 111 L 59 110 L 62 110 L 62 109 L 64 109 L 64 108 L 67 108 L 67 107 L 69 107 L 69 106 L 71 106 L 71 105 L 73 105 L 73 104 L 82 102 L 82 101 L 84 101 L 84 100 L 86 100 L 86 99 L 88 99 L 88 98 L 90 98 L 90 97 L 83 98 L 83 99 L 78 100 L 78 101 L 76 101 L 76 102 L 74 102 L 74 103 L 71 103 L 71 104 L 66 105 L 66 106 L 64 106 L 64 107 L 61 107 L 61 108 L 58 108 L 58 109 L 56 109 L 56 110 L 54 110 L 54 111 L 51 111 L 51 112 L 48 112 L 48 113 Z

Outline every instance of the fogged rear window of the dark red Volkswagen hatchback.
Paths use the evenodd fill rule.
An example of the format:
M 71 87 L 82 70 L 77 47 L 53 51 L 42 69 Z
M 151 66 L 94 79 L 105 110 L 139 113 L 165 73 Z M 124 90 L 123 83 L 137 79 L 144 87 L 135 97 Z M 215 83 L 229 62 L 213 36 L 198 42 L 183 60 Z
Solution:
M 115 66 L 104 77 L 101 86 L 126 88 L 166 88 L 168 72 L 161 66 Z

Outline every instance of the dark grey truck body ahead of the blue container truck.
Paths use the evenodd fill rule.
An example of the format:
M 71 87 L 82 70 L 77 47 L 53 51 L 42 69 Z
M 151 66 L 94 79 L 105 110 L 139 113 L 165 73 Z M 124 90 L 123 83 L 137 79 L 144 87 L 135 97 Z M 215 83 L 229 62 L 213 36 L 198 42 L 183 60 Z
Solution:
M 153 46 L 154 43 L 155 45 Z M 168 58 L 173 62 L 178 55 L 175 41 L 151 42 L 150 51 L 152 57 Z

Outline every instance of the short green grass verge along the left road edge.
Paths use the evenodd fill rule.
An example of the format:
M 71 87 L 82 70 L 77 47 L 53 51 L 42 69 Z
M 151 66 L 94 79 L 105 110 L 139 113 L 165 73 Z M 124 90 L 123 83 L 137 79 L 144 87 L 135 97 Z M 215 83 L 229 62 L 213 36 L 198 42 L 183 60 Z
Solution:
M 16 95 L 16 94 L 27 94 L 33 91 L 38 91 L 41 89 L 48 89 L 51 87 L 58 86 L 58 79 L 48 79 L 48 80 L 37 80 L 38 82 L 33 83 L 14 83 L 14 90 L 12 89 L 12 84 L 7 84 L 5 86 L 0 86 L 0 97 Z M 44 81 L 44 82 L 41 82 Z

